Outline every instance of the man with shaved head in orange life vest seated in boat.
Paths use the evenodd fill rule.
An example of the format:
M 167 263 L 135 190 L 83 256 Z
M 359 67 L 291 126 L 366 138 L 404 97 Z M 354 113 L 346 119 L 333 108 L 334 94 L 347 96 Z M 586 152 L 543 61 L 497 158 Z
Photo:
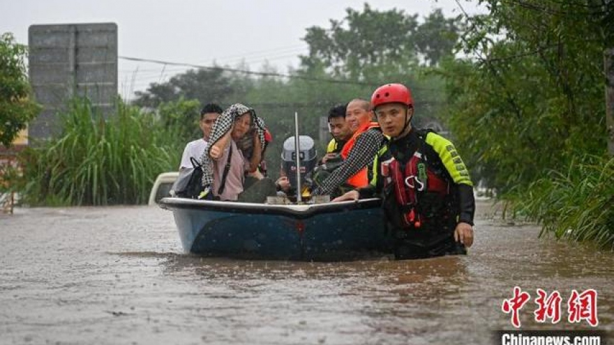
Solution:
M 314 195 L 332 194 L 342 185 L 354 188 L 368 185 L 367 166 L 384 142 L 377 122 L 373 122 L 373 110 L 367 100 L 356 98 L 347 103 L 345 121 L 352 136 L 340 151 L 343 164 L 331 172 L 313 190 Z

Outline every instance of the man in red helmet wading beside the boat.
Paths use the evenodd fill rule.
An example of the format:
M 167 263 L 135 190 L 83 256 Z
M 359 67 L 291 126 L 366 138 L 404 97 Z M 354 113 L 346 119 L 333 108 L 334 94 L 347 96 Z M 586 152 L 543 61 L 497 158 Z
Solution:
M 396 259 L 466 254 L 473 243 L 475 200 L 454 144 L 433 131 L 412 128 L 412 95 L 402 84 L 380 86 L 371 105 L 390 139 L 375 156 L 368 187 L 334 201 L 381 193 Z

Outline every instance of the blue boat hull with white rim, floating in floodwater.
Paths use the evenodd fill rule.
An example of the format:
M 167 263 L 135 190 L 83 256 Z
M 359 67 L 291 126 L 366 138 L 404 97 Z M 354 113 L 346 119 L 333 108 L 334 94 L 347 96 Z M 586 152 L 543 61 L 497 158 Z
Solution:
M 387 254 L 379 199 L 267 205 L 165 198 L 186 252 L 239 259 L 339 261 Z

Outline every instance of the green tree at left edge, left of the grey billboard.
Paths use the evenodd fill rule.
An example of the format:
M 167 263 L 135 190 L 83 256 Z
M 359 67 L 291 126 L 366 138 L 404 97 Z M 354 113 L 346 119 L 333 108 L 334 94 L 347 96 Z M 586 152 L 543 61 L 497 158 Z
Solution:
M 6 147 L 40 111 L 31 97 L 26 55 L 27 48 L 16 43 L 11 33 L 0 36 L 0 144 Z

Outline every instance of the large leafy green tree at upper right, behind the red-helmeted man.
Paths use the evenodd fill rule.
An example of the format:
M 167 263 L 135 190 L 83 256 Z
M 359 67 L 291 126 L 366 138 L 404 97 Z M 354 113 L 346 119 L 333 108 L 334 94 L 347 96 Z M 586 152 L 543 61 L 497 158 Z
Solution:
M 582 0 L 488 0 L 463 36 L 474 59 L 445 66 L 463 157 L 489 187 L 524 190 L 606 147 L 604 13 Z

